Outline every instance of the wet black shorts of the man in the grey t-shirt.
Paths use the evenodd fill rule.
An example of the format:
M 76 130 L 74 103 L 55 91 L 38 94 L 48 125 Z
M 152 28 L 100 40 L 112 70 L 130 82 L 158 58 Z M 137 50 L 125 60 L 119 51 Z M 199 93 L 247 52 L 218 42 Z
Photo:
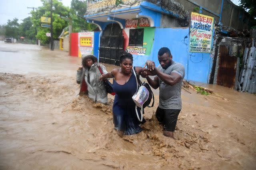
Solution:
M 163 125 L 164 131 L 174 132 L 180 109 L 156 109 L 156 119 Z

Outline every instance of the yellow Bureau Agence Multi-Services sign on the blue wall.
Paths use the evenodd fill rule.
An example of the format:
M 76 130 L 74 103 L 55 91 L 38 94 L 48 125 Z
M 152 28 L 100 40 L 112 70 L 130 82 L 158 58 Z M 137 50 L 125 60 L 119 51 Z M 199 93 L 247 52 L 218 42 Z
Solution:
M 191 12 L 189 52 L 211 53 L 214 17 Z

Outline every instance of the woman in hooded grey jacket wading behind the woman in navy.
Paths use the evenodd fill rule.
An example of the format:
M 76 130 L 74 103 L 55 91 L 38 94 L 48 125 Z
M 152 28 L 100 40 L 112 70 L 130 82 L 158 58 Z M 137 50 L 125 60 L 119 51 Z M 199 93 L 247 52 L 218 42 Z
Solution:
M 82 66 L 79 66 L 77 70 L 76 82 L 80 84 L 79 94 L 88 92 L 88 97 L 94 102 L 107 104 L 108 94 L 105 85 L 99 80 L 101 73 L 98 66 L 100 66 L 104 74 L 108 73 L 105 66 L 99 64 L 94 55 L 82 55 Z

